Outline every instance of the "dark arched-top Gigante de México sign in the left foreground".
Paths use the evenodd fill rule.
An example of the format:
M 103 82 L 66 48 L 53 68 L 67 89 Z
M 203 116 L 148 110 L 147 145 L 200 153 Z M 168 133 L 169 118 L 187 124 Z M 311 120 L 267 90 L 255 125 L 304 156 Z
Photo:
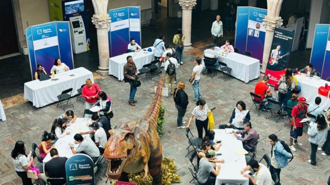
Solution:
M 67 185 L 94 185 L 94 164 L 86 154 L 75 154 L 65 163 Z

